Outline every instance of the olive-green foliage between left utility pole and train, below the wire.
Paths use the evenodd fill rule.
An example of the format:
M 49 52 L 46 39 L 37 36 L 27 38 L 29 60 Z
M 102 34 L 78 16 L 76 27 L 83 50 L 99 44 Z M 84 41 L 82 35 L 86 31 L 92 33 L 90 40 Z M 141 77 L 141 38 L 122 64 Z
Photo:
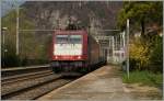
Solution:
M 26 65 L 46 64 L 51 41 L 46 34 L 22 33 L 20 56 Z

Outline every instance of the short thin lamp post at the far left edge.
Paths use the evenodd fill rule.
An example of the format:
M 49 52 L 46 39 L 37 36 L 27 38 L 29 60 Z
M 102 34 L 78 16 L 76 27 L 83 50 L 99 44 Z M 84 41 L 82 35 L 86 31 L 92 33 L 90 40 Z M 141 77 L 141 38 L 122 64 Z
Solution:
M 3 60 L 2 60 L 2 66 L 4 67 L 5 63 L 4 63 L 4 57 L 5 57 L 5 53 L 8 52 L 8 49 L 5 48 L 5 31 L 8 30 L 8 27 L 2 27 L 2 45 L 3 45 L 3 49 L 2 49 L 2 54 L 3 54 Z

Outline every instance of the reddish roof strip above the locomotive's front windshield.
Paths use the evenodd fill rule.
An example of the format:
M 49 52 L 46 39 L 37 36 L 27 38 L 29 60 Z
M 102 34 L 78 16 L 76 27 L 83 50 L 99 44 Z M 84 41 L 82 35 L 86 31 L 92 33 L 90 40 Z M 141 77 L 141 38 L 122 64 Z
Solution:
M 56 31 L 56 34 L 87 34 L 84 30 L 75 30 L 75 31 Z

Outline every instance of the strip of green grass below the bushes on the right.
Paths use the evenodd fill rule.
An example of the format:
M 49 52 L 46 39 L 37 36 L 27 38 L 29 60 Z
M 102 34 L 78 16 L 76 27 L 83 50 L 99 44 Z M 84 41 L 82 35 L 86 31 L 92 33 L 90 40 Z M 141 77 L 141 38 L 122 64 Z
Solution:
M 163 74 L 153 74 L 147 70 L 131 71 L 129 79 L 126 72 L 122 74 L 122 81 L 125 83 L 141 83 L 145 86 L 161 87 L 163 86 Z

